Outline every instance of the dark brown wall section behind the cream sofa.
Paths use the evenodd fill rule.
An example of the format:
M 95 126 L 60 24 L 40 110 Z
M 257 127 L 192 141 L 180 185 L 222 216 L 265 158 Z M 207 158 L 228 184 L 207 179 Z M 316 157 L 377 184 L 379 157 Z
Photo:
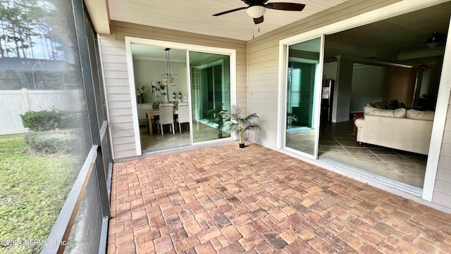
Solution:
M 414 68 L 387 66 L 385 68 L 385 92 L 383 99 L 385 101 L 397 99 L 407 107 L 412 107 L 415 80 L 416 70 Z

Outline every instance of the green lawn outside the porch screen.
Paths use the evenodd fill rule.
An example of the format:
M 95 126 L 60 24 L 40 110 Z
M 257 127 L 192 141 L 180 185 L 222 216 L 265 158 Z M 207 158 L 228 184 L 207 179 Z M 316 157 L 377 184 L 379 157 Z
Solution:
M 23 137 L 0 136 L 0 240 L 43 241 L 75 180 L 75 158 L 27 153 Z M 39 253 L 43 247 L 2 241 L 0 253 Z

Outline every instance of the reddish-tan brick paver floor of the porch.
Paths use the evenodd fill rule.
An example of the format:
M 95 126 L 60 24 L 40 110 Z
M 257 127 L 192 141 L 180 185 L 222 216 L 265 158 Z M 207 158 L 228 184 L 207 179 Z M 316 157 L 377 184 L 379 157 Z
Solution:
M 451 253 L 451 215 L 237 146 L 115 163 L 108 253 Z

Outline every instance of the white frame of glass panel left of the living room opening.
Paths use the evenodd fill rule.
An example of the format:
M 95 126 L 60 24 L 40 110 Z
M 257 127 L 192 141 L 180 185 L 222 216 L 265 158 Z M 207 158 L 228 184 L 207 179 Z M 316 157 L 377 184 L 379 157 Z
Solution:
M 279 97 L 278 97 L 278 149 L 302 155 L 302 157 L 316 160 L 318 158 L 319 149 L 319 124 L 321 114 L 321 84 L 323 75 L 323 56 L 324 56 L 324 34 L 299 34 L 299 36 L 280 40 L 279 42 Z M 294 44 L 307 42 L 311 39 L 321 39 L 321 46 L 319 52 L 319 62 L 316 63 L 316 72 L 314 77 L 314 129 L 315 129 L 315 144 L 314 154 L 304 153 L 286 146 L 286 129 L 287 129 L 287 102 L 288 102 L 288 62 L 289 62 L 289 47 Z

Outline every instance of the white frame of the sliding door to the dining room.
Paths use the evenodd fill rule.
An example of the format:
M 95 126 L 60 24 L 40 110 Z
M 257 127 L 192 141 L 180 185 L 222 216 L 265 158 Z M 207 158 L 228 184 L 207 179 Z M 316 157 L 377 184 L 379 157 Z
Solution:
M 133 75 L 133 58 L 132 58 L 132 44 L 142 44 L 142 45 L 152 45 L 152 46 L 161 46 L 163 48 L 171 48 L 171 49 L 182 49 L 186 51 L 186 61 L 187 61 L 187 86 L 188 91 L 191 89 L 191 76 L 190 76 L 190 51 L 197 51 L 202 53 L 214 53 L 220 55 L 226 55 L 230 57 L 230 105 L 235 105 L 237 101 L 236 90 L 237 90 L 237 61 L 236 61 L 236 50 L 235 49 L 226 49 L 226 48 L 218 48 L 213 46 L 202 46 L 196 44 L 185 44 L 180 42 L 167 42 L 160 41 L 155 39 L 144 39 L 137 37 L 125 37 L 125 51 L 126 58 L 128 64 L 128 79 L 130 84 L 130 100 L 131 100 L 131 108 L 132 108 L 132 120 L 133 120 L 133 132 L 135 136 L 135 148 L 136 154 L 142 155 L 141 150 L 141 139 L 140 139 L 140 123 L 137 115 L 137 101 L 135 95 L 135 77 Z M 191 93 L 188 92 L 188 103 L 191 105 Z M 190 106 L 190 118 L 192 117 L 192 109 Z M 192 129 L 192 121 L 190 122 L 190 129 Z M 192 132 L 190 132 L 190 145 L 194 145 Z M 211 141 L 203 141 L 197 142 L 196 144 L 204 144 L 204 143 L 212 143 L 217 140 Z

